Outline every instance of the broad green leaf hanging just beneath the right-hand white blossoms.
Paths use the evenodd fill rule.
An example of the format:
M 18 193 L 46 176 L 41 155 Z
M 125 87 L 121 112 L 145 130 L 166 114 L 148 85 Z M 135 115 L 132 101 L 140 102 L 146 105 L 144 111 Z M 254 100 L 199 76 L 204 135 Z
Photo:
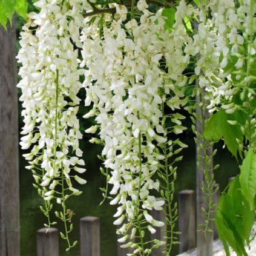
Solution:
M 206 140 L 218 142 L 223 138 L 227 148 L 235 157 L 237 157 L 237 151 L 241 154 L 237 139 L 243 141 L 243 133 L 239 125 L 240 121 L 243 122 L 243 115 L 240 114 L 240 111 L 227 114 L 225 110 L 220 109 L 208 120 L 204 131 Z M 234 121 L 234 124 L 231 125 L 230 121 Z

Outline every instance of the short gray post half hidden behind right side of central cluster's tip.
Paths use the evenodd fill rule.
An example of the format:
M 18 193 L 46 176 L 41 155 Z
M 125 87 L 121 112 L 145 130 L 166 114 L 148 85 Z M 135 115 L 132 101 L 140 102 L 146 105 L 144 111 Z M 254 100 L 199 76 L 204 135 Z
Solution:
M 158 198 L 157 200 L 163 200 L 161 198 Z M 157 211 L 154 208 L 151 210 L 151 216 L 155 219 L 155 220 L 160 220 L 160 222 L 165 223 L 165 225 L 163 225 L 160 228 L 156 228 L 154 227 L 154 229 L 156 229 L 156 232 L 154 234 L 151 234 L 151 240 L 157 239 L 160 241 L 166 241 L 166 222 L 165 222 L 165 213 L 166 212 L 166 206 L 163 206 L 165 211 Z M 160 246 L 157 249 L 153 249 L 152 251 L 152 256 L 160 256 L 163 255 L 162 251 L 163 251 L 163 246 Z

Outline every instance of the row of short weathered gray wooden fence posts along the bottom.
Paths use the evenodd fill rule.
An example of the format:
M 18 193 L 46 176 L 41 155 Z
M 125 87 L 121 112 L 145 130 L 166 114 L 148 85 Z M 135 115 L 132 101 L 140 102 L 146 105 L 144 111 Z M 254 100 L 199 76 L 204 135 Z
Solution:
M 218 185 L 217 185 L 218 186 Z M 214 203 L 217 203 L 219 193 L 214 195 Z M 197 227 L 195 223 L 195 191 L 183 190 L 179 192 L 179 253 L 195 248 L 195 237 Z M 151 212 L 154 218 L 165 222 L 165 215 L 160 211 Z M 217 238 L 215 226 L 214 238 Z M 152 239 L 166 240 L 165 226 L 156 228 Z M 37 256 L 59 256 L 59 231 L 50 228 L 46 233 L 46 228 L 39 229 L 37 232 Z M 119 236 L 117 235 L 117 238 Z M 80 219 L 80 256 L 100 256 L 100 219 L 98 217 L 84 217 Z M 125 256 L 132 253 L 131 248 L 122 249 L 118 243 L 117 256 Z M 153 250 L 152 256 L 161 256 L 162 248 Z

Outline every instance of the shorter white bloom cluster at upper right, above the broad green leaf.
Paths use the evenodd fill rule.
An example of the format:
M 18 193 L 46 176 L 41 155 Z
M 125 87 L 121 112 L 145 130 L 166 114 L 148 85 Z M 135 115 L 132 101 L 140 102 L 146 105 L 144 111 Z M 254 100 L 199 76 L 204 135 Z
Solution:
M 234 113 L 237 106 L 231 103 L 232 96 L 244 87 L 246 59 L 256 53 L 256 41 L 249 40 L 254 33 L 251 30 L 255 30 L 250 19 L 255 6 L 250 1 L 239 1 L 239 7 L 237 4 L 234 0 L 209 1 L 199 13 L 198 33 L 193 36 L 195 74 L 200 87 L 208 92 L 205 99 L 210 100 L 209 111 L 222 104 L 226 113 Z

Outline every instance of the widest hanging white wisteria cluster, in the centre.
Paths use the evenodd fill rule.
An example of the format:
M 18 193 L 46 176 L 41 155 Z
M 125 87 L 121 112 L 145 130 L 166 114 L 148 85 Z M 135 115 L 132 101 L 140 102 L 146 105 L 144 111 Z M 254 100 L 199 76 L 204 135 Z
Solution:
M 93 103 L 93 110 L 85 117 L 96 115 L 98 123 L 87 133 L 100 128 L 104 165 L 111 169 L 111 204 L 120 205 L 114 224 L 121 226 L 117 232 L 123 235 L 119 240 L 122 242 L 141 236 L 144 228 L 154 233 L 154 227 L 163 226 L 150 211 L 162 210 L 164 201 L 157 200 L 150 191 L 159 190 L 154 174 L 167 157 L 159 153 L 161 145 L 168 143 L 164 107 L 168 105 L 174 111 L 187 102 L 183 71 L 189 54 L 184 55 L 182 48 L 185 42 L 192 42 L 182 23 L 182 7 L 177 10 L 172 33 L 163 29 L 162 10 L 151 13 L 145 0 L 137 3 L 137 9 L 142 12 L 140 20 L 126 21 L 126 7 L 116 5 L 115 19 L 102 28 L 97 25 L 99 18 L 90 25 L 87 18 L 81 36 L 84 47 L 80 67 L 87 67 L 85 105 Z M 173 125 L 168 129 L 182 133 L 185 128 L 180 119 L 184 117 L 178 113 L 169 117 Z M 155 247 L 163 244 L 154 242 Z M 151 251 L 142 243 L 130 241 L 124 246 L 133 247 L 134 254 Z

